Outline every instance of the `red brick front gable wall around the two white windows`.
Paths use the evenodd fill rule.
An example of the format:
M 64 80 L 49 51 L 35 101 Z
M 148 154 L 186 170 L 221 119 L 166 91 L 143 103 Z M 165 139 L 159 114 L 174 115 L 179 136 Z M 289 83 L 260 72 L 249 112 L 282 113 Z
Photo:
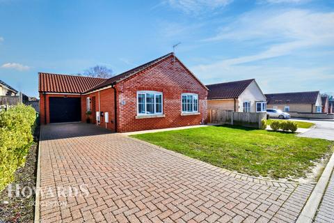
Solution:
M 173 61 L 173 56 L 116 84 L 116 89 L 118 91 L 118 132 L 198 125 L 202 119 L 207 121 L 207 89 L 182 66 L 182 63 L 177 59 Z M 137 91 L 162 92 L 165 117 L 137 119 Z M 198 94 L 200 114 L 181 115 L 182 93 Z

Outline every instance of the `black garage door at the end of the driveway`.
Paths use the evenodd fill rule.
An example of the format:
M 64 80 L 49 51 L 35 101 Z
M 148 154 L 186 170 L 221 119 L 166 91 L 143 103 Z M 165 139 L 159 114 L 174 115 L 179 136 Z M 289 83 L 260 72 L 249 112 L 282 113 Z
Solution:
M 80 98 L 49 98 L 50 123 L 81 121 Z

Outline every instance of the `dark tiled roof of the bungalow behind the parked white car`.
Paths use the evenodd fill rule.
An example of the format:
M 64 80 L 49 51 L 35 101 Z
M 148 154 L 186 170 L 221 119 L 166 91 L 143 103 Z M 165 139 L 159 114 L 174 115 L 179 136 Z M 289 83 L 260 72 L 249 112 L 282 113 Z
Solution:
M 315 105 L 319 91 L 265 94 L 268 105 Z

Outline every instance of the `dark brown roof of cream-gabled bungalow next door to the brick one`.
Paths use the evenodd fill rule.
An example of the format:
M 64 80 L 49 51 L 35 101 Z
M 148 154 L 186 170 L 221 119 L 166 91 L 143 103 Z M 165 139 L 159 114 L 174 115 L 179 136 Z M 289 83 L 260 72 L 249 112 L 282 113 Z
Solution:
M 209 84 L 208 100 L 239 98 L 239 95 L 245 91 L 248 85 L 255 79 L 245 79 L 238 82 L 226 82 L 220 84 Z

